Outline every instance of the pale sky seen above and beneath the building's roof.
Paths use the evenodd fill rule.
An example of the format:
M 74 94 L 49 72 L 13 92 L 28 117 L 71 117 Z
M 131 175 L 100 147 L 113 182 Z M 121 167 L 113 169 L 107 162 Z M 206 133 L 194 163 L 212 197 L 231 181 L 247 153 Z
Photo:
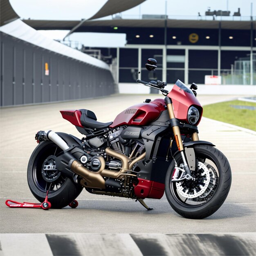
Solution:
M 10 0 L 13 9 L 21 18 L 38 20 L 81 20 L 94 15 L 107 0 Z M 122 12 L 123 18 L 137 18 L 139 14 L 165 14 L 169 18 L 182 19 L 182 16 L 196 18 L 198 12 L 204 15 L 208 8 L 231 11 L 231 16 L 240 8 L 241 16 L 256 16 L 255 0 L 146 0 L 137 7 Z M 179 16 L 179 17 L 177 17 Z M 108 17 L 110 18 L 110 17 Z M 186 17 L 188 18 L 188 17 Z M 45 36 L 61 40 L 68 31 L 40 31 Z M 79 41 L 90 47 L 121 47 L 126 43 L 124 34 L 74 33 L 70 40 Z

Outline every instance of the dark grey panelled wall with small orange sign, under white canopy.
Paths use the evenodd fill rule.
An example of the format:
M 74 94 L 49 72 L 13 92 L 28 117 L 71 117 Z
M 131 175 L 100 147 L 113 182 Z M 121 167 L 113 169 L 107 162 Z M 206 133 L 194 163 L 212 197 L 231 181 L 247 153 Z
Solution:
M 0 36 L 0 106 L 85 99 L 115 93 L 116 85 L 109 70 L 56 54 L 2 32 Z

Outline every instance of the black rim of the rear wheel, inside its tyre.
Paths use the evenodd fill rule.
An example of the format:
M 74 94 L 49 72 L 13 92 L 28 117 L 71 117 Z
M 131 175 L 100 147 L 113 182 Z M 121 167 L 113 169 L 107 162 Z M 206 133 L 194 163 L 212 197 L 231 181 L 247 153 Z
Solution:
M 46 193 L 47 190 L 49 190 L 49 193 L 54 193 L 67 181 L 67 177 L 56 169 L 43 170 L 44 165 L 54 164 L 54 160 L 51 157 L 56 157 L 62 152 L 55 144 L 48 144 L 40 150 L 34 160 L 32 169 L 33 181 L 37 189 L 43 193 Z

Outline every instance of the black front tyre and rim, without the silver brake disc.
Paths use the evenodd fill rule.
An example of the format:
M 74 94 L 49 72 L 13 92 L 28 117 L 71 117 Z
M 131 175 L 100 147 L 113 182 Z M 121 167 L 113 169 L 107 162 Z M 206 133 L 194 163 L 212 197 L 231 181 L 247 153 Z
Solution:
M 184 218 L 203 219 L 216 212 L 227 198 L 231 186 L 231 168 L 225 155 L 213 146 L 196 145 L 194 150 L 196 159 L 199 159 L 199 162 L 203 162 L 205 166 L 208 166 L 207 169 L 209 172 L 213 173 L 209 166 L 213 167 L 214 165 L 213 177 L 215 177 L 216 181 L 211 187 L 209 185 L 210 189 L 208 190 L 208 194 L 205 193 L 205 196 L 204 194 L 199 195 L 197 198 L 189 198 L 189 195 L 193 196 L 195 192 L 189 194 L 186 189 L 193 187 L 193 184 L 190 186 L 183 185 L 185 192 L 183 193 L 183 191 L 180 190 L 181 194 L 176 184 L 177 182 L 171 182 L 175 170 L 174 161 L 171 163 L 166 173 L 165 193 L 169 204 L 178 214 Z M 180 154 L 175 157 L 175 160 L 178 166 L 179 163 L 182 163 Z M 208 165 L 209 162 L 213 164 Z M 193 175 L 193 171 L 191 171 L 191 174 Z M 184 180 L 184 182 L 187 181 Z M 182 181 L 180 184 L 186 183 Z M 189 189 L 189 191 L 192 190 L 193 189 Z M 188 193 L 187 198 L 185 193 Z

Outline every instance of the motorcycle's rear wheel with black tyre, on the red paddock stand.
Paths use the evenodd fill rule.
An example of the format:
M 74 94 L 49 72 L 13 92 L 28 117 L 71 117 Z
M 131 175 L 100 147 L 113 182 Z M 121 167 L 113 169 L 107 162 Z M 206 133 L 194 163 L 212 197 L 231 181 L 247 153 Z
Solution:
M 32 153 L 27 168 L 27 181 L 34 197 L 43 202 L 47 190 L 51 208 L 63 208 L 75 200 L 83 187 L 56 169 L 55 159 L 62 153 L 52 141 L 41 142 Z

